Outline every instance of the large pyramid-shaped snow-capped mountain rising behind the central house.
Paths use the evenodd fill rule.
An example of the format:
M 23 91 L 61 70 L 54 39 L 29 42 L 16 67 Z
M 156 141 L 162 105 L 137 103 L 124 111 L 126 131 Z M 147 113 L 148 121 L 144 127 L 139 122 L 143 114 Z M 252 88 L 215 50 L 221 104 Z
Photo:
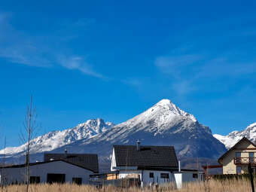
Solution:
M 200 124 L 193 114 L 181 110 L 169 99 L 161 100 L 142 114 L 112 126 L 104 133 L 55 151 L 70 148 L 81 153 L 97 151 L 99 156 L 109 157 L 112 145 L 136 145 L 138 139 L 141 145 L 174 145 L 176 153 L 182 157 L 217 158 L 226 151 L 224 145 L 212 136 L 208 126 Z

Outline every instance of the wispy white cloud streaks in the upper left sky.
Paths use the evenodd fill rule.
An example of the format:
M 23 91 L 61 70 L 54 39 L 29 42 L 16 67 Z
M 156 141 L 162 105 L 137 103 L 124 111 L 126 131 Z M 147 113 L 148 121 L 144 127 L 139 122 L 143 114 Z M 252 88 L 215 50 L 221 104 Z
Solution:
M 76 38 L 79 29 L 82 32 L 89 30 L 94 20 L 65 20 L 58 23 L 56 32 L 35 36 L 14 29 L 10 24 L 9 15 L 0 13 L 0 36 L 5 36 L 0 38 L 0 57 L 27 66 L 59 65 L 66 69 L 78 70 L 84 75 L 107 79 L 87 63 L 85 56 L 72 54 L 71 48 L 63 44 L 63 41 Z

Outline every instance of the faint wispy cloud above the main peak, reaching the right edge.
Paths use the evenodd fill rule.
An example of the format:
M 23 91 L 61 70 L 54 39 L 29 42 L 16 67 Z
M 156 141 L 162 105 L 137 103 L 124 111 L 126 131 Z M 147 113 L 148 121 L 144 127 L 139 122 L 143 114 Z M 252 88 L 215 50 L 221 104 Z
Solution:
M 199 86 L 202 81 L 256 73 L 256 57 L 246 60 L 240 56 L 245 53 L 243 47 L 215 55 L 207 52 L 199 54 L 195 50 L 193 47 L 190 50 L 179 48 L 169 55 L 158 56 L 154 61 L 158 71 L 171 82 L 172 90 L 178 95 L 202 89 L 203 86 Z

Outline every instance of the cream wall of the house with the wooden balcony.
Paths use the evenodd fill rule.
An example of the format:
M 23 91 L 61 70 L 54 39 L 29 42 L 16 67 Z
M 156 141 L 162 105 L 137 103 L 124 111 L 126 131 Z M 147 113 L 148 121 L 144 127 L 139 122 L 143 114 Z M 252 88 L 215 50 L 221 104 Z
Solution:
M 241 153 L 241 157 L 249 157 L 249 152 L 254 152 L 254 157 L 256 155 L 256 149 L 255 150 L 239 150 L 239 148 L 254 148 L 253 145 L 251 145 L 247 141 L 243 141 L 239 143 L 239 145 L 236 146 L 238 149 L 233 149 L 229 151 L 223 158 L 223 174 L 236 174 L 236 165 L 233 162 L 233 158 L 236 157 L 236 152 Z M 241 166 L 242 173 L 248 171 L 248 165 Z

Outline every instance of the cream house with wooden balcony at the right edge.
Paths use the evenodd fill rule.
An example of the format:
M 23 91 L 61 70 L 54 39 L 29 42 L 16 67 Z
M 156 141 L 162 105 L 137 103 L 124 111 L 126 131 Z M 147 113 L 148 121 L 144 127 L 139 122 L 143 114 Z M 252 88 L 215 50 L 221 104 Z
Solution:
M 256 171 L 256 145 L 243 137 L 236 145 L 223 154 L 218 163 L 223 166 L 223 174 L 242 174 L 248 172 L 251 163 L 253 172 Z

